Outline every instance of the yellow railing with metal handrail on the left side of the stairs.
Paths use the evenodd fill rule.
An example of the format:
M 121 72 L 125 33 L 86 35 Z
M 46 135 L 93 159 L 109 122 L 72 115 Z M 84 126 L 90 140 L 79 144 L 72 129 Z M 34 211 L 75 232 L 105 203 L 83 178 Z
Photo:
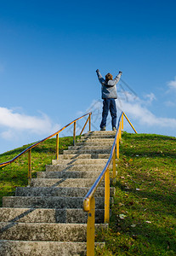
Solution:
M 75 144 L 76 142 L 76 127 L 77 127 L 77 121 L 79 119 L 82 119 L 83 117 L 87 116 L 88 115 L 88 119 L 86 120 L 86 123 L 85 125 L 83 126 L 82 128 L 82 131 L 80 133 L 80 135 L 82 135 L 82 132 L 84 131 L 86 125 L 88 124 L 88 121 L 89 121 L 89 131 L 91 131 L 91 112 L 89 113 L 86 113 L 84 115 L 82 115 L 81 117 L 73 120 L 71 123 L 69 123 L 68 125 L 65 125 L 63 128 L 61 128 L 59 131 L 56 131 L 54 132 L 54 134 L 44 138 L 43 140 L 31 145 L 30 147 L 26 148 L 25 150 L 23 150 L 20 154 L 16 155 L 12 160 L 9 160 L 7 162 L 3 162 L 3 163 L 0 163 L 0 167 L 3 167 L 3 166 L 8 166 L 10 165 L 11 163 L 13 163 L 15 160 L 17 160 L 18 158 L 20 158 L 20 156 L 22 156 L 23 154 L 26 154 L 28 152 L 28 183 L 30 184 L 31 183 L 31 149 L 32 148 L 36 148 L 39 144 L 45 142 L 46 140 L 50 139 L 51 137 L 54 137 L 56 136 L 56 160 L 59 159 L 59 133 L 60 131 L 63 131 L 65 130 L 66 127 L 74 124 L 74 127 L 73 127 L 73 144 Z

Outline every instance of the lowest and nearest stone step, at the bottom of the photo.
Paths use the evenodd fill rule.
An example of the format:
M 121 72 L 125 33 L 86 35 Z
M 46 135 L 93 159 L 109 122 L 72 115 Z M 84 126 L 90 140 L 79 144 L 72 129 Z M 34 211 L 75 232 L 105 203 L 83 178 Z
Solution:
M 105 243 L 95 242 L 95 247 Z M 0 241 L 0 255 L 3 256 L 86 256 L 86 242 L 67 241 Z

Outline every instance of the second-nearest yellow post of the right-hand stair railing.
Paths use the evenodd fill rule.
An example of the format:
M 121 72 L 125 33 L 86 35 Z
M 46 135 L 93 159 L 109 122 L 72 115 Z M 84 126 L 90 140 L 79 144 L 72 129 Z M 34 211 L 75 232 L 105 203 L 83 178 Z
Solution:
M 110 169 L 105 172 L 105 224 L 110 221 Z

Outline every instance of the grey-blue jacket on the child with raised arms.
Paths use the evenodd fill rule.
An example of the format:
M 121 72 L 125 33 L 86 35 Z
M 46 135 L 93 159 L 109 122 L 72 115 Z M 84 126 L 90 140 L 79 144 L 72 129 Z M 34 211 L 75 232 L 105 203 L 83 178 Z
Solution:
M 108 82 L 103 79 L 102 75 L 100 74 L 99 71 L 97 71 L 99 83 L 101 84 L 101 96 L 102 99 L 116 99 L 117 94 L 116 94 L 116 84 L 120 80 L 122 73 L 118 73 L 116 78 L 113 80 L 109 80 Z

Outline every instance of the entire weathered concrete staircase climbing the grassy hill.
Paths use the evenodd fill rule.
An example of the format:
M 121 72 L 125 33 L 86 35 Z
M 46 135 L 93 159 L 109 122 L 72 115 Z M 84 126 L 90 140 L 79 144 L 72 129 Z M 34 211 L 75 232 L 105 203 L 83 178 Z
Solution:
M 3 197 L 0 255 L 86 255 L 83 197 L 105 167 L 114 137 L 114 131 L 88 132 L 46 166 L 46 172 L 37 172 L 31 186 Z M 114 192 L 111 188 L 111 197 Z M 103 224 L 104 194 L 102 182 L 94 195 L 95 232 L 108 227 Z

